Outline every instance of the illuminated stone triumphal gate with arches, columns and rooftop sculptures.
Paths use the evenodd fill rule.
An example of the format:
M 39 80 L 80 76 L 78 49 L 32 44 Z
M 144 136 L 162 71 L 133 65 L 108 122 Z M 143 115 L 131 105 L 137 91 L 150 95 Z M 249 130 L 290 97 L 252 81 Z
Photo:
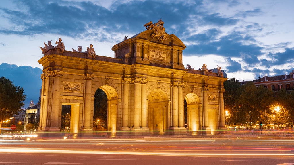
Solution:
M 221 73 L 213 73 L 205 64 L 200 70 L 185 69 L 183 42 L 167 34 L 161 20 L 144 26 L 146 31 L 112 47 L 114 58 L 93 55 L 90 49 L 83 53 L 63 50 L 66 44 L 61 38 L 61 47 L 45 44 L 41 48 L 39 132 L 60 131 L 62 105 L 71 105 L 70 132 L 91 134 L 98 88 L 107 95 L 111 136 L 211 135 L 224 128 L 226 78 L 220 69 Z

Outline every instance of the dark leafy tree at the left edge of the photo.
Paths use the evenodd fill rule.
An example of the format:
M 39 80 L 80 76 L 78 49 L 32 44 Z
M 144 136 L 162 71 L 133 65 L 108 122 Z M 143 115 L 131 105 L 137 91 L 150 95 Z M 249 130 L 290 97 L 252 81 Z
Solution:
M 25 99 L 22 87 L 17 87 L 9 79 L 0 77 L 0 128 L 4 120 L 16 115 L 24 106 Z

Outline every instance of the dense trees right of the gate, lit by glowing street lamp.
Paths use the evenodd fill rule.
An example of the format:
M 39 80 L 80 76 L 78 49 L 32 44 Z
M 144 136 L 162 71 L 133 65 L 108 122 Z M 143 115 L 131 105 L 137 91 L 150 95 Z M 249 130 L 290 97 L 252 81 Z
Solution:
M 265 87 L 256 87 L 253 82 L 240 84 L 235 78 L 224 82 L 224 104 L 229 124 L 278 124 L 294 122 L 294 91 L 273 92 Z M 276 111 L 277 107 L 280 108 Z

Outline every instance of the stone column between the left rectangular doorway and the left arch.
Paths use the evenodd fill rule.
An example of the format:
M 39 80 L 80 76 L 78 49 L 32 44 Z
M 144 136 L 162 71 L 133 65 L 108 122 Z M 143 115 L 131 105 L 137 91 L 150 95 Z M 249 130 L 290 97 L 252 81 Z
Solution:
M 85 96 L 84 96 L 84 114 L 83 114 L 83 128 L 82 130 L 91 130 L 91 92 L 92 92 L 92 80 L 93 74 L 85 74 Z

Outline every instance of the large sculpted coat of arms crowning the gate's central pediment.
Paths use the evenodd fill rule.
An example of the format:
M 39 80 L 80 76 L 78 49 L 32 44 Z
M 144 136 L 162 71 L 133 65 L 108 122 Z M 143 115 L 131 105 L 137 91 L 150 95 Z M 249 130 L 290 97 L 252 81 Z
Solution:
M 152 21 L 146 23 L 144 26 L 147 30 L 151 29 L 152 33 L 150 35 L 151 38 L 157 38 L 156 42 L 163 42 L 167 39 L 167 33 L 165 32 L 165 28 L 163 27 L 163 21 L 160 19 L 156 23 L 152 23 Z

